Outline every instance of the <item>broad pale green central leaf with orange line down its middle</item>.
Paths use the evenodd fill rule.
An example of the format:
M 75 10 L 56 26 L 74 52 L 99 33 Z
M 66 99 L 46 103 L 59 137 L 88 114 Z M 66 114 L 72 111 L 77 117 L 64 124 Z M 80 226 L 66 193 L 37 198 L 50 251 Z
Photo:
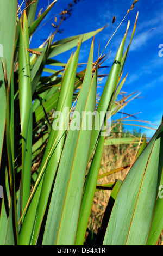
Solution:
M 75 108 L 76 113 L 80 115 L 80 121 L 84 110 L 87 108 L 90 111 L 95 110 L 95 83 L 91 87 L 92 63 L 93 42 L 82 89 Z M 73 115 L 73 118 L 75 119 L 76 115 Z M 80 121 L 79 126 L 81 125 Z M 43 237 L 45 245 L 54 245 L 55 243 L 64 245 L 65 242 L 74 244 L 75 242 L 90 136 L 91 131 L 80 131 L 80 129 L 69 129 L 68 131 L 49 206 Z M 71 143 L 72 141 L 73 143 Z

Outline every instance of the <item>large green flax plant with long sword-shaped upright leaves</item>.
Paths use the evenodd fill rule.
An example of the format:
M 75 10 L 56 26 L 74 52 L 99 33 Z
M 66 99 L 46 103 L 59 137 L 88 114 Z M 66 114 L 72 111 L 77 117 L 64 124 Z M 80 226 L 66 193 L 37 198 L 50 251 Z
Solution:
M 110 111 L 115 115 L 129 103 L 127 98 L 118 103 L 117 96 L 127 78 L 121 80 L 138 13 L 130 43 L 124 51 L 128 21 L 102 96 L 97 101 L 98 68 L 105 55 L 103 52 L 98 54 L 97 61 L 93 62 L 94 41 L 95 35 L 104 27 L 54 41 L 59 23 L 39 48 L 31 49 L 30 38 L 40 29 L 39 25 L 49 10 L 54 8 L 55 11 L 57 0 L 43 13 L 40 10 L 35 19 L 38 2 L 0 1 L 0 39 L 3 45 L 0 65 L 0 183 L 3 186 L 0 244 L 83 245 L 97 188 L 111 189 L 110 198 L 115 201 L 114 206 L 108 203 L 112 212 L 103 229 L 106 233 L 101 236 L 104 245 L 156 244 L 163 226 L 163 201 L 159 197 L 162 123 L 151 141 L 147 145 L 142 143 L 123 182 L 118 180 L 97 187 L 97 180 L 101 179 L 98 174 L 103 148 L 111 142 L 109 138 L 105 141 L 106 128 L 103 133 L 101 126 L 96 129 L 95 120 L 103 111 L 102 121 L 107 127 L 106 113 Z M 72 1 L 58 14 L 61 22 L 76 3 Z M 55 22 L 57 19 L 55 15 Z M 77 72 L 80 47 L 90 38 L 92 43 L 86 69 Z M 67 63 L 56 59 L 74 47 L 76 50 Z M 56 67 L 59 70 L 55 70 Z M 43 76 L 43 71 L 51 75 Z M 68 109 L 66 115 L 65 109 Z M 80 129 L 76 130 L 68 129 L 74 121 L 74 111 L 80 117 Z M 82 129 L 86 118 L 84 111 L 95 112 L 91 130 Z M 55 129 L 54 125 L 57 112 L 64 116 L 63 119 L 58 117 L 60 129 Z

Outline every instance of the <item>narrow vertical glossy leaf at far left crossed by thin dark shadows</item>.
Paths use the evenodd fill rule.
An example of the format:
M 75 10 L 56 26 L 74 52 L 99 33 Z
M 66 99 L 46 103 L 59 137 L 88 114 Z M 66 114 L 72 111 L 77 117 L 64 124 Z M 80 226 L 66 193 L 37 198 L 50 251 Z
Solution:
M 19 48 L 19 100 L 22 136 L 22 179 L 21 179 L 21 212 L 30 196 L 31 160 L 32 160 L 32 93 L 30 81 L 29 35 L 26 13 L 23 15 L 20 29 Z

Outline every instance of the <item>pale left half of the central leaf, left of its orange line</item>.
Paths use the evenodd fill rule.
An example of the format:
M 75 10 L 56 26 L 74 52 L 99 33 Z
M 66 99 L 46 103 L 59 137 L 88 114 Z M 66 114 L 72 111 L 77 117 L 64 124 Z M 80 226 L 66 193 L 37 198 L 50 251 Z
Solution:
M 91 84 L 92 63 L 93 63 L 93 42 L 91 46 L 89 62 L 87 64 L 87 69 L 86 69 L 86 74 L 84 77 L 82 89 L 80 90 L 79 98 L 75 108 L 75 110 L 80 113 L 80 117 L 82 117 L 82 111 L 84 111 L 85 109 L 85 104 L 87 102 L 87 95 L 89 94 L 89 90 L 90 90 L 90 86 L 88 86 L 88 84 L 89 85 Z M 45 235 L 43 237 L 43 244 L 46 244 L 46 245 L 47 244 L 53 245 L 57 242 L 57 236 L 58 236 L 58 231 L 60 227 L 62 211 L 64 209 L 64 202 L 67 194 L 68 182 L 70 179 L 71 169 L 73 167 L 74 155 L 76 155 L 78 136 L 79 136 L 79 130 L 68 131 L 64 150 L 62 152 L 62 156 L 59 164 L 59 169 L 57 172 L 57 177 L 54 184 L 51 204 L 49 206 L 49 212 L 48 212 L 48 217 L 47 217 L 47 222 L 45 227 Z M 73 143 L 70 143 L 71 141 L 73 141 Z M 62 184 L 64 184 L 64 186 L 62 186 L 62 184 L 60 183 L 60 180 L 62 180 Z M 75 225 L 77 225 L 77 219 L 76 219 Z

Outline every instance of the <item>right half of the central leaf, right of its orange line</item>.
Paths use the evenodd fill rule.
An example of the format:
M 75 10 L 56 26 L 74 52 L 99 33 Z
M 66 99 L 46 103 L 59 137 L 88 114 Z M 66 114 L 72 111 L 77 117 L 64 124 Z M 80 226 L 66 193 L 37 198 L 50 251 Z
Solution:
M 96 87 L 97 73 L 95 72 L 86 102 L 85 112 L 91 111 L 92 113 L 95 111 Z M 71 176 L 68 182 L 64 209 L 61 216 L 57 245 L 63 245 L 65 242 L 67 245 L 74 245 L 75 243 L 87 158 L 89 156 L 91 133 L 92 131 L 89 130 L 81 130 L 79 134 Z

